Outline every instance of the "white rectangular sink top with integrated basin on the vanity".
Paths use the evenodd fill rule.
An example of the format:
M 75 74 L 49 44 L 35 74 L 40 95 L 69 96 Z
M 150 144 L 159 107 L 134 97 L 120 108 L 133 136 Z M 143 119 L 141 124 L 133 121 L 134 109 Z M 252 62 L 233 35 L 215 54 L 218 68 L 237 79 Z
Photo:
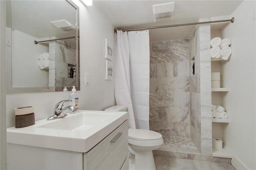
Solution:
M 29 127 L 7 128 L 6 137 L 8 143 L 88 152 L 127 119 L 127 112 L 80 111 Z

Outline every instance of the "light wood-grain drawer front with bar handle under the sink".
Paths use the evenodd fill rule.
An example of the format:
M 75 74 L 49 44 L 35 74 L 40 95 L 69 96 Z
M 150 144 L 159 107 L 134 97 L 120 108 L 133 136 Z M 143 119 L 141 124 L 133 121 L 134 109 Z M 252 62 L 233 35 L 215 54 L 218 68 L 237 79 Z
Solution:
M 84 153 L 84 170 L 119 170 L 128 155 L 128 121 Z

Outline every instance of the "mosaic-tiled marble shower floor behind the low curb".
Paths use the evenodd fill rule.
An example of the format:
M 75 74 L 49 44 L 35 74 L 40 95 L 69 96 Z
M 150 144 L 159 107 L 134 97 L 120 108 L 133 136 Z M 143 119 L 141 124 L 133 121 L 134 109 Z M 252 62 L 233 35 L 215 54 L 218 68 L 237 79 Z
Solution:
M 163 146 L 174 146 L 176 148 L 196 149 L 193 140 L 188 136 L 169 136 L 162 135 L 164 138 Z

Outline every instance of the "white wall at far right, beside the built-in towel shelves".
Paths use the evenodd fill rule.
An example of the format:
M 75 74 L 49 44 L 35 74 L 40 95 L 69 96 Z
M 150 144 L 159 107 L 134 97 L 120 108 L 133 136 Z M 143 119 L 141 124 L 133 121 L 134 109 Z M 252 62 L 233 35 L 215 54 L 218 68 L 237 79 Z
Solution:
M 254 12 L 255 1 L 242 2 L 231 15 L 234 23 L 222 31 L 222 38 L 232 39 L 230 61 L 222 65 L 222 84 L 230 88 L 223 98 L 230 114 L 230 123 L 223 128 L 224 145 L 251 170 L 256 169 Z

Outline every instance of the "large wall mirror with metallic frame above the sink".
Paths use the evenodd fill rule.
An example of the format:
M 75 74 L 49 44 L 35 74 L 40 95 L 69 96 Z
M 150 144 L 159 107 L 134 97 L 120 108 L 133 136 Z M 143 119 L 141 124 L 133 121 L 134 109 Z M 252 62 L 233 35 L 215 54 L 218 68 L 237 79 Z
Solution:
M 80 90 L 78 17 L 69 0 L 6 1 L 7 93 Z

